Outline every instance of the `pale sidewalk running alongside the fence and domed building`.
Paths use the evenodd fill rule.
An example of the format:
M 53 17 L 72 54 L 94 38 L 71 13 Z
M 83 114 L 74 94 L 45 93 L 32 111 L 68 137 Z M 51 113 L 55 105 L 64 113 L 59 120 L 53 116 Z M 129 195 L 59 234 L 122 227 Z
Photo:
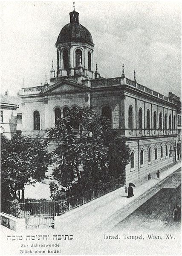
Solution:
M 56 229 L 70 232 L 89 232 L 89 231 L 101 231 L 108 230 L 110 227 L 110 221 L 113 225 L 118 224 L 118 221 L 123 220 L 130 211 L 125 211 L 128 206 L 134 205 L 132 212 L 142 205 L 146 199 L 136 200 L 150 188 L 153 188 L 163 179 L 168 177 L 174 171 L 181 167 L 181 162 L 172 166 L 166 171 L 163 171 L 160 179 L 151 179 L 146 183 L 143 183 L 139 187 L 133 189 L 134 197 L 127 198 L 127 194 L 124 191 L 124 187 L 108 193 L 98 199 L 93 200 L 90 203 L 80 206 L 66 214 L 60 216 L 57 220 Z M 160 187 L 158 188 L 158 191 Z M 154 192 L 154 194 L 157 193 Z M 153 194 L 151 193 L 152 197 Z M 147 199 L 148 200 L 148 199 Z M 135 202 L 134 202 L 135 201 Z M 135 206 L 136 205 L 136 206 Z M 124 211 L 124 214 L 122 212 Z M 119 218 L 117 218 L 119 216 Z

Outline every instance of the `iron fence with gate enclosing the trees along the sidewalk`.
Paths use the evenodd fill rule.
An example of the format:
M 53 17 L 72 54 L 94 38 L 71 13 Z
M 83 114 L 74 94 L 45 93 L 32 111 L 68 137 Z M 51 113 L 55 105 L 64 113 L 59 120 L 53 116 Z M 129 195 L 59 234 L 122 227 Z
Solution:
M 17 200 L 1 199 L 1 212 L 16 218 L 25 218 L 27 228 L 41 227 L 43 225 L 52 227 L 55 216 L 62 215 L 121 186 L 121 179 L 115 179 L 104 184 L 97 184 L 95 189 L 90 189 L 82 194 L 76 194 L 71 197 L 65 197 L 61 200 L 26 199 L 23 202 L 18 202 Z

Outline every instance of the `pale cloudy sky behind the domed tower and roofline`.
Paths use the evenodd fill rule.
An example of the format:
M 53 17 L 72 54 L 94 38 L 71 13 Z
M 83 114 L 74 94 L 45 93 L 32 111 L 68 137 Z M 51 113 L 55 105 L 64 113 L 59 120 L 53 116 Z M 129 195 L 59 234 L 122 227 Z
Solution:
M 1 2 L 1 93 L 16 95 L 50 77 L 55 42 L 69 23 L 73 1 Z M 181 4 L 179 1 L 75 0 L 79 23 L 92 34 L 94 71 L 125 76 L 168 96 L 181 96 Z

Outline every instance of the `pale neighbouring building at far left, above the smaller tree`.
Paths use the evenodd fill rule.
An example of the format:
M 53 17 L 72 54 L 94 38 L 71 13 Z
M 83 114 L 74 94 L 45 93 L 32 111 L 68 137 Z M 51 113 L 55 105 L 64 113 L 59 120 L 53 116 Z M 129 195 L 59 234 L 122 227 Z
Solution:
M 12 138 L 14 134 L 21 133 L 22 130 L 22 112 L 21 98 L 12 97 L 6 91 L 5 95 L 1 94 L 1 136 Z

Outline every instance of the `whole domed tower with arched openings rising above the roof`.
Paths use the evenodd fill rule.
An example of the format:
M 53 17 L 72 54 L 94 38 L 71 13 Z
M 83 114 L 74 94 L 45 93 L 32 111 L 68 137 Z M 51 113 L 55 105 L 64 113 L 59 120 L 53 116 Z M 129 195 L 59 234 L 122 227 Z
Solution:
M 75 6 L 69 13 L 70 23 L 66 24 L 58 35 L 57 48 L 57 76 L 62 77 L 66 71 L 68 77 L 74 77 L 78 72 L 79 60 L 83 68 L 83 76 L 94 78 L 93 72 L 93 41 L 89 30 L 79 23 L 79 13 Z

